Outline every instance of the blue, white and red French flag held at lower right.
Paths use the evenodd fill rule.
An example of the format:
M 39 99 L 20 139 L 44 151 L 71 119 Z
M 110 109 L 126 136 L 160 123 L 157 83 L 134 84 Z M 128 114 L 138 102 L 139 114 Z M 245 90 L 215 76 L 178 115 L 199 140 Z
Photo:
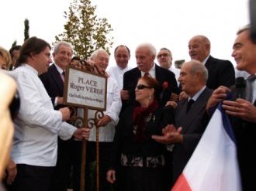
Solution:
M 237 148 L 221 104 L 171 191 L 240 191 Z

